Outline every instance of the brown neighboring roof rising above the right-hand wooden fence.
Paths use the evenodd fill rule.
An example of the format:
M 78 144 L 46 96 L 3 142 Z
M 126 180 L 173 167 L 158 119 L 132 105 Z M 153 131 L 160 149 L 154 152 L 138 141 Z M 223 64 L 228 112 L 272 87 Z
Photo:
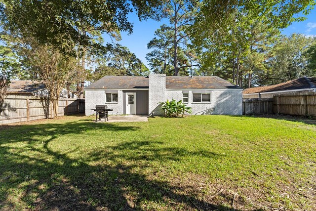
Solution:
M 242 91 L 242 94 L 254 94 L 311 88 L 316 88 L 316 78 L 302 77 L 281 84 L 246 88 Z

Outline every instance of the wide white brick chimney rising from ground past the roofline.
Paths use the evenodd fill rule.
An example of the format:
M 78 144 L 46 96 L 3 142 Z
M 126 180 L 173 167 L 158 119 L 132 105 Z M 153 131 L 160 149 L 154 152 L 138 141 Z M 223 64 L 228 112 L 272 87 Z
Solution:
M 166 75 L 151 74 L 149 76 L 149 115 L 163 116 L 164 111 L 161 109 L 163 102 L 166 100 Z

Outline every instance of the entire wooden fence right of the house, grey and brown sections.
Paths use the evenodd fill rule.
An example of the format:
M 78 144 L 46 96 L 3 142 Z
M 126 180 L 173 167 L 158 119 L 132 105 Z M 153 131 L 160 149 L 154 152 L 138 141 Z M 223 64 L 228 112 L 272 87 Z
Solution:
M 273 98 L 249 98 L 242 100 L 243 115 L 288 114 L 316 116 L 316 93 L 279 94 Z

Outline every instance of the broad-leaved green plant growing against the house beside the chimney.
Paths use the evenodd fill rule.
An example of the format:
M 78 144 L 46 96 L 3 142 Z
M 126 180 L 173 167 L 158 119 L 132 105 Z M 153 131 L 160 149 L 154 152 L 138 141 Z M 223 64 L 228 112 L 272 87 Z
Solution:
M 182 100 L 176 101 L 172 99 L 171 101 L 167 100 L 161 103 L 161 108 L 164 110 L 166 117 L 183 117 L 185 113 L 192 113 L 192 108 L 186 106 Z

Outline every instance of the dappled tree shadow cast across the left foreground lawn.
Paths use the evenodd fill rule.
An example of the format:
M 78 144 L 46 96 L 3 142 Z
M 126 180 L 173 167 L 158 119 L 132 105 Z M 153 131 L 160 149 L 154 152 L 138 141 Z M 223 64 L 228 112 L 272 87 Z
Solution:
M 178 160 L 188 153 L 181 149 L 158 149 L 155 146 L 160 143 L 155 141 L 125 141 L 109 146 L 106 152 L 89 152 L 88 156 L 85 156 L 87 159 L 81 160 L 69 157 L 68 154 L 71 152 L 60 153 L 49 147 L 50 142 L 59 136 L 80 134 L 90 129 L 137 131 L 140 128 L 76 122 L 11 126 L 0 130 L 0 191 L 2 189 L 6 192 L 6 195 L 0 192 L 0 209 L 1 206 L 7 207 L 8 210 L 14 208 L 14 200 L 10 195 L 14 193 L 9 193 L 8 190 L 20 188 L 24 192 L 18 200 L 32 210 L 147 210 L 146 206 L 153 205 L 151 203 L 162 205 L 163 209 L 234 210 L 196 198 L 196 187 L 164 182 L 133 169 L 146 168 L 146 165 L 128 165 L 120 162 L 121 159 L 136 162 Z M 50 138 L 39 147 L 43 137 Z M 10 146 L 13 143 L 25 146 Z M 145 148 L 148 153 L 139 153 L 141 148 Z M 31 153 L 22 155 L 22 150 L 39 156 L 32 156 Z M 77 150 L 74 149 L 72 152 Z M 130 153 L 119 154 L 124 150 L 129 150 Z M 197 153 L 203 156 L 218 156 Z M 94 162 L 94 165 L 89 165 L 90 162 Z M 191 189 L 192 192 L 182 192 L 183 189 Z M 34 200 L 34 196 L 38 198 Z M 141 207 L 144 204 L 145 207 Z

